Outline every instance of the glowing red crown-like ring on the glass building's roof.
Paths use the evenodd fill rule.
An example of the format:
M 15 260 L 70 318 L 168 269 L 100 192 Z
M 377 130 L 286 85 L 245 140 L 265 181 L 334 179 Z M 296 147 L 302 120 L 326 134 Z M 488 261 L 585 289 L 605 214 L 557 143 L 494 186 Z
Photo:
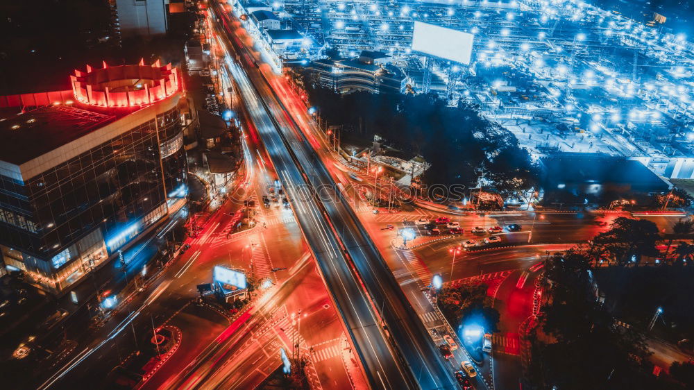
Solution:
M 98 107 L 132 107 L 155 103 L 178 92 L 178 69 L 171 64 L 119 65 L 87 71 L 75 70 L 70 76 L 72 91 L 80 103 Z

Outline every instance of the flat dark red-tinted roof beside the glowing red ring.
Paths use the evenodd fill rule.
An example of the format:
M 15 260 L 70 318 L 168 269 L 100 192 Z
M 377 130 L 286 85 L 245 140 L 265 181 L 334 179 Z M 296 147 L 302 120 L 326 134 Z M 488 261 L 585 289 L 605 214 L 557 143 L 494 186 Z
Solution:
M 96 108 L 81 103 L 0 112 L 0 160 L 21 165 L 124 117 L 139 107 Z

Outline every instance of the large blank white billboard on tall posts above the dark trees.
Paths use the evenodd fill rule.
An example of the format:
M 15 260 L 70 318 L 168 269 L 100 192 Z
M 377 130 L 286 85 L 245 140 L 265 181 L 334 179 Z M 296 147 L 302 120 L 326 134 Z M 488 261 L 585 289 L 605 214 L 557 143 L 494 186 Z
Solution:
M 475 35 L 434 24 L 414 22 L 412 51 L 469 64 Z

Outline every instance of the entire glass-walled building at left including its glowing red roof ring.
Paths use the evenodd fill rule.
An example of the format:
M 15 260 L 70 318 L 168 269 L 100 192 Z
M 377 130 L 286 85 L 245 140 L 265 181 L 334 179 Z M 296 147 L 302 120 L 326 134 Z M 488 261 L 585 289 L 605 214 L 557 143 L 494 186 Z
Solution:
M 0 257 L 55 294 L 180 210 L 187 192 L 176 68 L 87 66 L 70 83 L 0 96 Z

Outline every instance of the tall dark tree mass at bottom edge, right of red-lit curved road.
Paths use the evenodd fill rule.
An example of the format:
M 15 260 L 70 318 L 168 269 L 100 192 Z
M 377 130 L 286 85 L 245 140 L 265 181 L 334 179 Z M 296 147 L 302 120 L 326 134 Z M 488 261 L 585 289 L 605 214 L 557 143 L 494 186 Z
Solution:
M 590 264 L 575 251 L 545 261 L 548 298 L 530 337 L 530 378 L 538 388 L 642 388 L 648 357 L 643 339 L 616 325 L 596 299 Z

